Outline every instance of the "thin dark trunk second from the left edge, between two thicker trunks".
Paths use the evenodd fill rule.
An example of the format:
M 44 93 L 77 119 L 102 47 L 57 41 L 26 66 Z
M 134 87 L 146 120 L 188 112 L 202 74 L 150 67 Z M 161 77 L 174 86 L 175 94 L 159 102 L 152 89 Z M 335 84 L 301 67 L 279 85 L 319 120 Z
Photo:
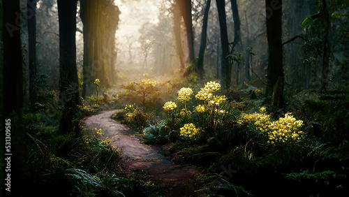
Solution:
M 29 102 L 33 103 L 36 95 L 36 0 L 27 0 L 28 46 L 29 46 Z

